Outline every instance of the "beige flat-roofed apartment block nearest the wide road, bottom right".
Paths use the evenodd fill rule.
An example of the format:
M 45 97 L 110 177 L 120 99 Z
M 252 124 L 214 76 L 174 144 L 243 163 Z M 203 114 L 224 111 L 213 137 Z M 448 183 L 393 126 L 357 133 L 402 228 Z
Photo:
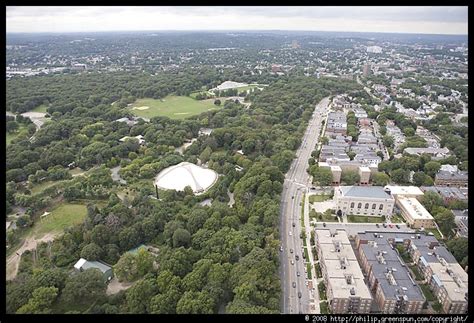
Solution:
M 369 313 L 372 296 L 345 230 L 315 230 L 326 295 L 332 313 Z

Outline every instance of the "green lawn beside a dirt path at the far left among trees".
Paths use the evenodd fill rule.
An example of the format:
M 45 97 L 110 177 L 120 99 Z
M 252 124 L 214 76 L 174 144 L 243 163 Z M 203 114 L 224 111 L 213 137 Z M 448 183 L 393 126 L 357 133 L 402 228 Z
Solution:
M 62 232 L 65 228 L 81 223 L 87 215 L 85 203 L 61 203 L 51 214 L 40 218 L 34 227 L 34 234 L 40 238 L 49 232 Z

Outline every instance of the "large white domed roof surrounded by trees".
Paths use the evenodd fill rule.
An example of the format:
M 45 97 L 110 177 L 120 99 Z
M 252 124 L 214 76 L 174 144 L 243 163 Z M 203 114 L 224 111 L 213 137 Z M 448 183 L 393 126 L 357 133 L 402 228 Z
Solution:
M 155 185 L 166 190 L 184 191 L 190 186 L 193 192 L 203 193 L 217 181 L 217 173 L 212 169 L 182 162 L 163 169 L 155 178 Z

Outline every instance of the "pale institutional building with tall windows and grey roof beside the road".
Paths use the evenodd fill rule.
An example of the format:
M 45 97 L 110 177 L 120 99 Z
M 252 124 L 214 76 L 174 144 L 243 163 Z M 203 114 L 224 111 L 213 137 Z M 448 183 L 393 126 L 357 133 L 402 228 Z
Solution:
M 381 186 L 339 186 L 334 189 L 334 204 L 342 214 L 390 216 L 395 199 Z

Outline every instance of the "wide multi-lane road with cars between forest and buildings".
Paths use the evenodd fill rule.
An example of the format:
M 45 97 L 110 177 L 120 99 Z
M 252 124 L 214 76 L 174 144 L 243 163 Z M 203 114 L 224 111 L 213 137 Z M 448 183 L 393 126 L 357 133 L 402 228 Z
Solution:
M 280 278 L 282 286 L 281 309 L 285 314 L 309 313 L 309 289 L 306 286 L 303 243 L 300 239 L 301 203 L 311 185 L 308 159 L 319 140 L 321 121 L 327 114 L 329 98 L 316 105 L 300 148 L 285 176 L 280 206 Z M 299 260 L 296 260 L 296 256 Z

